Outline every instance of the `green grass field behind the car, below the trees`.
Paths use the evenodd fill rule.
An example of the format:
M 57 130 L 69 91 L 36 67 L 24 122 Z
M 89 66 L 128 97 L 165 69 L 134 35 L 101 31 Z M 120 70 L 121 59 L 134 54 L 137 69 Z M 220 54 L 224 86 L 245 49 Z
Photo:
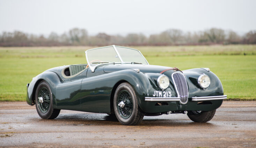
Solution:
M 0 47 L 0 101 L 25 101 L 26 84 L 33 77 L 60 65 L 86 63 L 84 51 L 90 48 L 95 47 Z M 229 99 L 256 100 L 256 45 L 132 48 L 153 65 L 208 67 Z

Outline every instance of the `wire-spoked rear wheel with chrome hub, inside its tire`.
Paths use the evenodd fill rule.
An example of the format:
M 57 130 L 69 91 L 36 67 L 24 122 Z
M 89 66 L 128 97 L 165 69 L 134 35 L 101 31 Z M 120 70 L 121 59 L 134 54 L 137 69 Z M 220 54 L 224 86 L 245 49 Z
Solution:
M 40 100 L 39 98 L 43 98 Z M 42 87 L 39 90 L 38 97 L 37 97 L 37 104 L 38 108 L 41 112 L 45 113 L 49 110 L 50 107 L 50 93 L 46 87 Z

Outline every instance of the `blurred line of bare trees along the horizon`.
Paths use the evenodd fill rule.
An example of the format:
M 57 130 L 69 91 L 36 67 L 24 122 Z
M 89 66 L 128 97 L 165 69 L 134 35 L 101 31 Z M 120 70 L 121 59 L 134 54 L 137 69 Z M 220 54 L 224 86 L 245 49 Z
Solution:
M 0 33 L 0 46 L 167 46 L 167 45 L 211 45 L 211 44 L 256 44 L 256 30 L 240 36 L 232 30 L 211 28 L 204 31 L 184 32 L 168 29 L 159 34 L 145 36 L 129 33 L 126 36 L 98 33 L 89 36 L 87 30 L 73 28 L 63 34 L 55 32 L 49 36 L 28 34 L 21 31 Z

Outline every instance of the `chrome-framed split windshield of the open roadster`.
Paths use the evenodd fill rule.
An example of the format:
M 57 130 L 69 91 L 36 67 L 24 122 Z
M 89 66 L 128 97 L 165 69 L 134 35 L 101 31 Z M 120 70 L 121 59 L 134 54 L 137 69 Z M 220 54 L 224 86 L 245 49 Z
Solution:
M 148 64 L 139 50 L 115 45 L 87 50 L 86 60 L 92 71 L 94 71 L 97 65 L 103 63 L 134 62 Z

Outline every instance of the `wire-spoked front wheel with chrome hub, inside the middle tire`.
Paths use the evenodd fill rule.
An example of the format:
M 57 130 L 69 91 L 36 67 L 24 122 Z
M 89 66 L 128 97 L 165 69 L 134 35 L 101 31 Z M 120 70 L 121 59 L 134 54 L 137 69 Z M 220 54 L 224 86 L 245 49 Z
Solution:
M 123 102 L 125 104 L 124 107 L 120 107 L 118 105 L 120 102 Z M 122 90 L 119 92 L 116 105 L 118 108 L 118 112 L 122 118 L 127 119 L 132 115 L 133 101 L 131 95 L 126 90 Z

